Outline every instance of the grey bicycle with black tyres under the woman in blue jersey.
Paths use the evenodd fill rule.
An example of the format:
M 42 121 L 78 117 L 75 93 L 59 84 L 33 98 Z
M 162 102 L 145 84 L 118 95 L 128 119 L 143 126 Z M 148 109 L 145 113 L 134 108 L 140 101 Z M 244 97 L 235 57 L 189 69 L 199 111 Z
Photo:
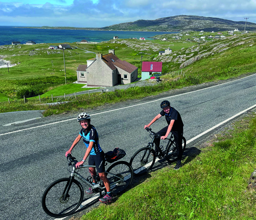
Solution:
M 84 189 L 82 184 L 75 179 L 78 178 L 80 181 L 91 187 L 94 193 L 100 193 L 102 197 L 102 191 L 106 192 L 104 183 L 100 180 L 98 172 L 94 176 L 96 184 L 92 184 L 92 176 L 84 178 L 78 173 L 80 169 L 84 168 L 95 168 L 96 166 L 81 165 L 78 168 L 75 164 L 78 162 L 75 157 L 71 154 L 67 155 L 68 171 L 71 172 L 70 177 L 61 178 L 51 183 L 50 186 L 45 189 L 42 196 L 42 207 L 46 214 L 61 218 L 71 215 L 77 210 L 84 198 Z M 105 164 L 106 157 L 105 157 Z M 71 169 L 69 169 L 71 166 Z M 111 194 L 113 196 L 119 195 L 127 190 L 132 183 L 133 169 L 132 166 L 126 161 L 117 161 L 109 166 L 105 171 L 106 176 L 110 182 Z

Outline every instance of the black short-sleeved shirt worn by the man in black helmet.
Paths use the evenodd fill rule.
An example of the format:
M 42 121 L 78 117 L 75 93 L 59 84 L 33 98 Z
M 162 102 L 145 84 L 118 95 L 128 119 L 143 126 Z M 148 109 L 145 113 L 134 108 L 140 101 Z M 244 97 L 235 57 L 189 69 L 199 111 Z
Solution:
M 170 125 L 171 120 L 175 120 L 172 126 L 172 131 L 181 131 L 183 130 L 183 122 L 181 119 L 181 115 L 179 114 L 179 112 L 173 108 L 170 107 L 170 112 L 168 114 L 166 114 L 164 112 L 164 110 L 162 110 L 160 112 L 160 115 L 164 116 L 165 115 L 165 119 L 168 125 Z

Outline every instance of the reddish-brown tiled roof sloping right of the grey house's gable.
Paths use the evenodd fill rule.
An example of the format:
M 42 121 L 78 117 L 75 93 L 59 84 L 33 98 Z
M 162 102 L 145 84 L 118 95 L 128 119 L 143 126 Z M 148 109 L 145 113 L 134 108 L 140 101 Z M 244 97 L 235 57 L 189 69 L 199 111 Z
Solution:
M 128 73 L 132 73 L 134 70 L 138 69 L 135 65 L 128 63 L 126 61 L 122 61 L 117 56 L 112 53 L 106 54 L 102 56 L 104 62 L 112 69 L 116 69 L 119 67 Z

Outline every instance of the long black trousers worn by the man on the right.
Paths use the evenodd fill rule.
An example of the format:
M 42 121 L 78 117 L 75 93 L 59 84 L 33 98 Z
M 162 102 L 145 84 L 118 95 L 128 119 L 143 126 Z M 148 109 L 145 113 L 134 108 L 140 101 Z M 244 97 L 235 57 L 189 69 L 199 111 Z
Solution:
M 168 126 L 162 128 L 160 131 L 157 132 L 157 134 L 159 134 L 160 136 L 165 136 L 167 129 L 168 129 Z M 181 162 L 182 154 L 183 154 L 183 150 L 182 150 L 183 129 L 180 131 L 171 131 L 171 133 L 173 134 L 176 146 L 178 146 L 177 147 L 177 154 L 178 154 L 177 162 Z M 160 138 L 155 138 L 154 143 L 159 147 Z M 156 152 L 158 152 L 157 148 L 156 148 Z

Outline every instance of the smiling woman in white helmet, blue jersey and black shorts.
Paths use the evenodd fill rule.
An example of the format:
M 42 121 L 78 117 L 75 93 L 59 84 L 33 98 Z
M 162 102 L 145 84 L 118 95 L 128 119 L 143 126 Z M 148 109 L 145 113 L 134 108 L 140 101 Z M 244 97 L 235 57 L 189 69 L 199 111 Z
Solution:
M 71 153 L 72 149 L 75 147 L 75 145 L 77 145 L 77 143 L 83 137 L 83 141 L 85 146 L 87 147 L 87 150 L 85 152 L 85 155 L 82 161 L 78 162 L 75 166 L 78 168 L 78 166 L 82 165 L 87 159 L 87 157 L 90 155 L 88 164 L 96 166 L 97 171 L 99 173 L 99 177 L 104 182 L 104 185 L 107 191 L 106 195 L 103 198 L 100 198 L 99 201 L 105 202 L 105 203 L 112 202 L 110 183 L 105 174 L 105 160 L 104 160 L 105 155 L 99 145 L 98 132 L 96 131 L 95 127 L 91 125 L 91 117 L 88 113 L 79 114 L 77 117 L 77 120 L 79 121 L 82 129 L 79 135 L 77 136 L 77 138 L 74 140 L 70 149 L 66 152 L 66 157 L 69 153 Z M 96 176 L 95 168 L 89 168 L 89 172 L 92 174 L 92 177 Z M 93 183 L 95 183 L 95 178 L 93 178 Z M 86 193 L 91 194 L 93 193 L 93 190 L 89 188 L 86 190 Z

